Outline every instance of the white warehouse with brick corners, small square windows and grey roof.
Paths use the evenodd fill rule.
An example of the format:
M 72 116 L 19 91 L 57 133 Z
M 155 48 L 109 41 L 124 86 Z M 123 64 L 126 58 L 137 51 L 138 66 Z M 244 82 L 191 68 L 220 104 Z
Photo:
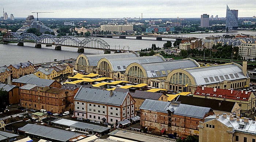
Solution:
M 74 100 L 78 118 L 116 123 L 135 116 L 135 100 L 129 92 L 81 87 Z

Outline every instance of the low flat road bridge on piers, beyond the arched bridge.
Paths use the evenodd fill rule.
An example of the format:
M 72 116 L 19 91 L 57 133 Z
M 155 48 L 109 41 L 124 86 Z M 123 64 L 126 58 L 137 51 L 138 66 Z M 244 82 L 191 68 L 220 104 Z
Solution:
M 162 41 L 163 38 L 166 39 L 175 39 L 176 41 L 181 41 L 182 39 L 185 39 L 184 37 L 176 37 L 176 36 L 159 36 L 159 35 L 96 35 L 96 37 L 100 38 L 113 38 L 113 37 L 119 37 L 122 39 L 125 39 L 126 37 L 136 37 L 136 39 L 146 39 L 146 38 L 155 38 L 157 41 Z M 147 39 L 148 40 L 148 39 Z

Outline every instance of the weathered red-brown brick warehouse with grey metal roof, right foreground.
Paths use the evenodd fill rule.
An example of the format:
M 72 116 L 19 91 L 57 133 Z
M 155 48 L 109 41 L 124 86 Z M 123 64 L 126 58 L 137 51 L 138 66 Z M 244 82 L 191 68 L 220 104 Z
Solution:
M 199 122 L 213 115 L 211 108 L 146 99 L 140 107 L 141 126 L 155 134 L 174 134 L 179 137 L 199 135 Z

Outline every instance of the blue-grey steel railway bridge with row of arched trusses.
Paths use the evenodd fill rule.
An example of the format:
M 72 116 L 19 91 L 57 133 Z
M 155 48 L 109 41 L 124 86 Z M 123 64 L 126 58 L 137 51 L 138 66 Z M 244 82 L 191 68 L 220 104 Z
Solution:
M 24 46 L 25 42 L 35 43 L 35 47 L 41 48 L 42 44 L 46 46 L 55 46 L 55 50 L 61 50 L 61 46 L 76 47 L 78 52 L 84 52 L 84 49 L 104 50 L 107 53 L 117 51 L 110 49 L 110 45 L 101 38 L 91 37 L 82 41 L 74 36 L 63 36 L 60 38 L 50 34 L 43 34 L 39 37 L 32 33 L 18 34 L 16 32 L 8 32 L 3 36 L 3 41 L 18 42 L 18 46 Z

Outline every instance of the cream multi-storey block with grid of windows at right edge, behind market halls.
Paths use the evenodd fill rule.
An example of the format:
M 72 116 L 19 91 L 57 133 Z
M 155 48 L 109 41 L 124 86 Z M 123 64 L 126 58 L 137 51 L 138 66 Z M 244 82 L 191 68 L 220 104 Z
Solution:
M 241 43 L 239 46 L 239 55 L 242 60 L 256 59 L 256 43 Z

